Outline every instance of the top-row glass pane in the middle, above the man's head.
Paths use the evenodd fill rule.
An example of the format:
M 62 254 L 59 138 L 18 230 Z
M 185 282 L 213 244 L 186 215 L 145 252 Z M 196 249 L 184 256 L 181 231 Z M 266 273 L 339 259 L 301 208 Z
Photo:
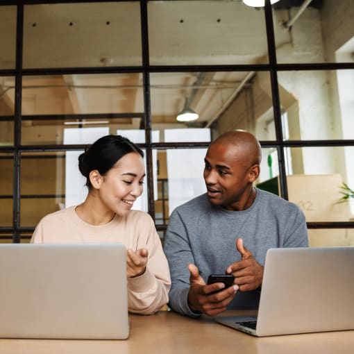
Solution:
M 149 1 L 152 65 L 266 64 L 264 9 L 242 1 Z

